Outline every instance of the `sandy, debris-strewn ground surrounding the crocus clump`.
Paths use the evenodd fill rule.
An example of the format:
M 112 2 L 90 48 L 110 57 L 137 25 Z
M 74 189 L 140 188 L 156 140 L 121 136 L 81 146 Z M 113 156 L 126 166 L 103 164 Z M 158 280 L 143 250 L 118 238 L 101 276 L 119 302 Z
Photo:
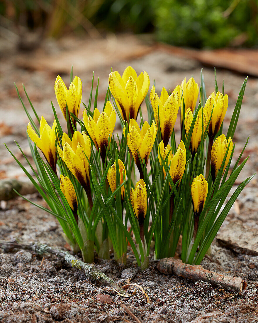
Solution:
M 72 64 L 74 75 L 79 75 L 83 82 L 84 102 L 88 102 L 93 69 L 95 76 L 100 77 L 101 108 L 111 66 L 120 73 L 128 65 L 133 66 L 138 73 L 146 70 L 151 84 L 155 79 L 158 92 L 163 86 L 174 89 L 184 77 L 188 79 L 194 76 L 198 82 L 200 78 L 201 66 L 195 60 L 171 56 L 152 44 L 142 43 L 131 36 L 121 36 L 112 40 L 111 45 L 109 43 L 107 47 L 100 41 L 88 39 L 47 41 L 43 45 L 34 53 L 16 53 L 12 47 L 0 52 L 0 178 L 23 176 L 22 170 L 5 149 L 4 142 L 24 164 L 25 160 L 21 158 L 14 140 L 29 154 L 26 138 L 28 120 L 17 98 L 14 81 L 21 92 L 22 83 L 25 84 L 38 114 L 43 114 L 51 123 L 53 117 L 50 100 L 53 100 L 57 107 L 54 93 L 56 75 L 62 73 L 61 76 L 68 83 L 68 71 Z M 78 55 L 74 54 L 77 48 L 80 49 L 80 60 Z M 108 59 L 103 58 L 105 48 Z M 121 48 L 127 48 L 127 52 Z M 85 61 L 82 53 L 85 54 Z M 56 63 L 50 64 L 53 60 Z M 206 91 L 210 94 L 214 90 L 214 72 L 212 68 L 204 68 L 203 72 Z M 219 87 L 223 78 L 225 92 L 229 95 L 229 108 L 224 122 L 227 128 L 245 77 L 227 70 L 217 70 Z M 25 99 L 24 94 L 22 98 Z M 27 101 L 26 106 L 29 107 Z M 250 159 L 237 183 L 258 169 L 257 106 L 258 80 L 249 78 L 233 141 L 236 141 L 236 156 L 250 135 L 243 156 L 250 155 Z M 80 116 L 82 112 L 83 109 Z M 61 111 L 58 113 L 62 120 Z M 120 130 L 118 124 L 116 130 Z M 175 130 L 178 140 L 179 123 Z M 236 220 L 243 230 L 252 234 L 257 232 L 257 186 L 257 179 L 254 177 L 233 205 L 220 229 L 221 233 L 228 230 L 231 234 L 230 225 Z M 44 205 L 37 194 L 30 198 Z M 64 248 L 62 230 L 51 215 L 39 211 L 21 198 L 2 201 L 0 206 L 1 239 L 19 238 Z M 251 252 L 246 255 L 239 250 L 228 250 L 215 241 L 210 258 L 205 257 L 202 262 L 209 270 L 241 276 L 248 283 L 247 291 L 242 297 L 224 292 L 220 288 L 216 289 L 208 283 L 195 283 L 180 277 L 162 275 L 157 271 L 154 261 L 151 261 L 147 270 L 141 272 L 133 264 L 134 258 L 130 250 L 127 268 L 116 265 L 112 259 L 95 259 L 95 262 L 100 270 L 113 277 L 116 282 L 123 284 L 131 279 L 132 283 L 144 287 L 151 304 L 147 304 L 144 294 L 139 290 L 130 299 L 122 300 L 141 322 L 254 322 L 258 321 L 258 250 L 249 247 L 248 243 L 247 241 L 247 249 Z M 121 298 L 115 295 L 110 287 L 96 284 L 79 270 L 65 266 L 52 256 L 43 258 L 27 251 L 0 255 L 0 301 L 0 322 L 134 322 L 121 307 Z

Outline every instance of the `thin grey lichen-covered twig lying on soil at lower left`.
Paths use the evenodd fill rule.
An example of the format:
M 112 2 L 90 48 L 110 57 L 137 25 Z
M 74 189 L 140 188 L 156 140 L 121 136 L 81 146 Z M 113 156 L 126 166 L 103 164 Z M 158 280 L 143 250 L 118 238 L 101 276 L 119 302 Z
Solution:
M 87 277 L 91 277 L 95 280 L 99 280 L 102 283 L 113 287 L 117 294 L 122 297 L 130 297 L 131 294 L 125 292 L 120 286 L 118 286 L 112 278 L 107 277 L 100 270 L 90 264 L 86 264 L 83 261 L 75 258 L 73 255 L 69 254 L 68 251 L 64 251 L 58 248 L 52 248 L 48 245 L 32 242 L 32 243 L 21 243 L 17 240 L 15 241 L 3 241 L 0 240 L 0 248 L 5 252 L 11 252 L 13 249 L 25 249 L 31 250 L 42 255 L 49 253 L 58 257 L 63 258 L 67 264 L 70 266 L 76 267 L 77 269 L 83 270 Z

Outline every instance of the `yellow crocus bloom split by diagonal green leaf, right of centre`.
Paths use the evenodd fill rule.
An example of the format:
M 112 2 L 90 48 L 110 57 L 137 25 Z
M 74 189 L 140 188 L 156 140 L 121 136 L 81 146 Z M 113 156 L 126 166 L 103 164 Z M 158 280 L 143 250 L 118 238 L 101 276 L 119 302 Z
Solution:
M 184 127 L 187 135 L 192 125 L 193 119 L 194 119 L 193 112 L 191 108 L 188 108 L 185 112 L 185 118 L 184 118 Z M 207 112 L 205 109 L 201 108 L 198 111 L 197 118 L 194 123 L 194 130 L 191 137 L 190 146 L 191 146 L 192 155 L 194 155 L 197 152 L 197 149 L 202 139 L 202 129 L 204 133 L 204 131 L 207 128 L 207 125 L 208 125 Z

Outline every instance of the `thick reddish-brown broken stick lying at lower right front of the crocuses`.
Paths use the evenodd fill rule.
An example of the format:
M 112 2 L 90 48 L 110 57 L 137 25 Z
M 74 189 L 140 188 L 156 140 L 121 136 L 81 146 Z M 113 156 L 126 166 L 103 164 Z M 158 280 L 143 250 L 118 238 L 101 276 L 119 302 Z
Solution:
M 174 274 L 191 280 L 203 280 L 214 286 L 242 295 L 247 284 L 241 277 L 230 277 L 209 271 L 201 265 L 184 264 L 180 259 L 173 257 L 161 259 L 158 262 L 158 270 L 163 274 Z

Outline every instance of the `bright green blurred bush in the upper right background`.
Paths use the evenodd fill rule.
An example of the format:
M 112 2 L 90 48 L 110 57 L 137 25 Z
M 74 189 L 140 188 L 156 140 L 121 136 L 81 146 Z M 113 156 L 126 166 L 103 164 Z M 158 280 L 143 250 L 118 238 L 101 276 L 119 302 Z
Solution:
M 257 45 L 257 0 L 151 0 L 159 40 L 189 47 Z

